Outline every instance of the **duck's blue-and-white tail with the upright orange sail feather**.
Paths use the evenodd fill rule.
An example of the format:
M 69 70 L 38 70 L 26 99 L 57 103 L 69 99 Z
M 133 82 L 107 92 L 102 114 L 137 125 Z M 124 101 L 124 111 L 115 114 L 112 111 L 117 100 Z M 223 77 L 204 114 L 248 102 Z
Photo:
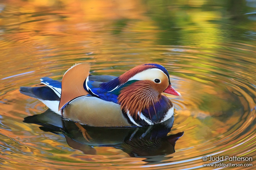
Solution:
M 46 86 L 20 87 L 24 95 L 37 98 L 55 113 L 61 114 L 61 109 L 71 100 L 88 95 L 84 89 L 84 81 L 89 76 L 90 64 L 75 64 L 63 75 L 62 82 L 44 77 L 41 83 Z

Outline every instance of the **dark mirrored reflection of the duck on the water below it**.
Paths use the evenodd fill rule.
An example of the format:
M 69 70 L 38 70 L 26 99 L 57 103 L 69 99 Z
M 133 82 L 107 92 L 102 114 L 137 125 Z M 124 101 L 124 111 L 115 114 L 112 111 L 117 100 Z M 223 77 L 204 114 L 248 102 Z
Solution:
M 26 123 L 40 124 L 40 129 L 63 134 L 70 147 L 85 154 L 96 154 L 95 146 L 121 149 L 132 157 L 147 158 L 147 162 L 168 159 L 166 155 L 175 152 L 175 142 L 183 132 L 169 135 L 174 117 L 156 125 L 133 128 L 104 128 L 80 125 L 62 120 L 49 109 L 39 115 L 28 116 Z M 86 131 L 84 131 L 86 129 Z M 86 133 L 86 134 L 85 134 Z

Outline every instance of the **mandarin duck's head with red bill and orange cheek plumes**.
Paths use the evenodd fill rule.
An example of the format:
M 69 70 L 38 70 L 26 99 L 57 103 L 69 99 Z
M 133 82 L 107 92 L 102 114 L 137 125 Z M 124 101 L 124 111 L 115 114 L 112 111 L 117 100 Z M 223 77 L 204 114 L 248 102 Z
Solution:
M 159 64 L 136 66 L 120 75 L 118 83 L 120 87 L 118 102 L 121 108 L 129 111 L 131 115 L 137 115 L 138 112 L 154 106 L 162 99 L 162 92 L 181 96 L 172 87 L 166 68 Z M 165 100 L 168 100 L 172 107 L 171 101 L 168 98 Z

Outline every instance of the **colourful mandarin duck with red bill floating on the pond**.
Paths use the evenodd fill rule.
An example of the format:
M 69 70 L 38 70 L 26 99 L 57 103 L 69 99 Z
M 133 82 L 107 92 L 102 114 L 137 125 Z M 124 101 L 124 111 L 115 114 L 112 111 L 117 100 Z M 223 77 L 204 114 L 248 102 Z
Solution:
M 44 86 L 20 87 L 63 118 L 97 127 L 148 126 L 173 115 L 173 104 L 162 92 L 181 96 L 169 73 L 158 64 L 142 64 L 119 77 L 91 75 L 90 64 L 75 64 L 62 82 L 44 77 Z M 46 86 L 45 86 L 46 85 Z

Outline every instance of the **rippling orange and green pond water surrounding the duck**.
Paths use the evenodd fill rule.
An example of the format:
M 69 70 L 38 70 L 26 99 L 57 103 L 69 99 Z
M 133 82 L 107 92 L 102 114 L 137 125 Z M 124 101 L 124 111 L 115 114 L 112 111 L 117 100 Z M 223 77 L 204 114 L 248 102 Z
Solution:
M 256 166 L 254 0 L 6 0 L 0 3 L 0 49 L 1 168 Z M 79 126 L 19 93 L 42 77 L 61 80 L 77 62 L 91 63 L 94 75 L 119 76 L 144 63 L 166 67 L 182 95 L 168 95 L 172 128 L 173 118 L 158 127 L 86 127 L 94 138 L 87 142 Z M 56 124 L 23 122 L 42 113 Z

